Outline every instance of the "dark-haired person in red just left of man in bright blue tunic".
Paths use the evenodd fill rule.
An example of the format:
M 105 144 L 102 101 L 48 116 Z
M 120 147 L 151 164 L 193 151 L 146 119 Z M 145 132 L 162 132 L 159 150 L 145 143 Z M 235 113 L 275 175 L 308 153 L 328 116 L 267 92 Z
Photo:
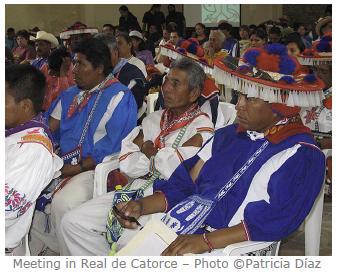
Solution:
M 48 110 L 63 90 L 75 85 L 73 68 L 70 53 L 65 48 L 58 48 L 50 53 L 48 63 L 41 68 L 47 81 L 43 110 Z

